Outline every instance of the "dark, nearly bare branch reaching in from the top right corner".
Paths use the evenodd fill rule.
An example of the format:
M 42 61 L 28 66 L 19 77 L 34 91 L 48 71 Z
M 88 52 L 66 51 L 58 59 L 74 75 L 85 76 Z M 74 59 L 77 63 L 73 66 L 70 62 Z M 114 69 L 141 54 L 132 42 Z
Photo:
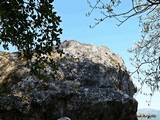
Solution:
M 101 10 L 106 10 L 108 9 L 107 8 L 107 5 L 104 4 L 101 0 L 97 0 L 96 4 L 94 6 L 91 5 L 91 3 L 89 2 L 89 0 L 87 0 L 90 7 L 92 8 L 90 12 L 88 12 L 87 16 L 90 16 L 92 14 L 92 12 L 95 10 L 95 9 L 101 9 Z M 160 1 L 159 2 L 152 2 L 151 0 L 148 1 L 150 4 L 148 3 L 145 3 L 145 4 L 141 4 L 141 5 L 137 5 L 135 6 L 134 5 L 134 1 L 132 0 L 132 8 L 126 12 L 123 12 L 123 13 L 120 13 L 120 14 L 117 14 L 117 13 L 114 13 L 113 10 L 111 9 L 111 11 L 107 11 L 108 12 L 108 15 L 101 11 L 101 14 L 104 15 L 103 18 L 100 18 L 100 19 L 97 19 L 95 18 L 95 20 L 97 21 L 93 26 L 90 25 L 90 28 L 94 28 L 95 26 L 97 26 L 98 24 L 100 24 L 102 21 L 104 21 L 105 19 L 107 18 L 115 18 L 116 20 L 118 20 L 120 23 L 117 24 L 118 26 L 122 25 L 125 21 L 127 21 L 128 19 L 130 19 L 131 17 L 133 16 L 136 16 L 136 15 L 139 15 L 141 13 L 144 13 L 148 10 L 150 10 L 153 6 L 155 6 L 152 10 L 150 10 L 147 14 L 151 13 L 157 6 L 158 4 L 160 4 Z M 102 6 L 98 7 L 98 4 L 101 3 Z M 113 5 L 110 5 L 108 4 L 108 6 L 110 7 L 115 7 Z M 143 9 L 139 10 L 139 8 L 142 8 L 144 7 Z M 132 13 L 134 11 L 134 13 Z M 130 13 L 132 13 L 131 15 L 129 15 Z M 126 15 L 126 16 L 125 16 Z M 125 19 L 123 20 L 120 20 L 119 17 L 123 17 Z

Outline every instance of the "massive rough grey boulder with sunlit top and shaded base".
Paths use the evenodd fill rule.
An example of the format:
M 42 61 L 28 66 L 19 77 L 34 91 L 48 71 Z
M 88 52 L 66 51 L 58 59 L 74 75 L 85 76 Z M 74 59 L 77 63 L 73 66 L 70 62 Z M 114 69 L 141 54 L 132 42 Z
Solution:
M 49 80 L 32 75 L 18 52 L 0 53 L 0 120 L 130 120 L 136 114 L 136 87 L 120 56 L 74 40 L 62 48 L 62 57 L 51 56 L 59 69 Z

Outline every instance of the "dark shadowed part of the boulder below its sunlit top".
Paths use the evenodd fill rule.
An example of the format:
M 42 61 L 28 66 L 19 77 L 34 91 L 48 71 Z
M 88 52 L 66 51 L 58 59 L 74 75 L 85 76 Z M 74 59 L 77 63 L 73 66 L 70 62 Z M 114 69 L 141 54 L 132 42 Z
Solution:
M 6 81 L 14 76 L 20 80 L 7 87 L 7 94 L 0 94 L 0 119 L 129 120 L 136 114 L 136 88 L 117 62 L 107 65 L 66 55 L 56 64 L 55 79 L 48 81 L 10 71 L 12 77 Z

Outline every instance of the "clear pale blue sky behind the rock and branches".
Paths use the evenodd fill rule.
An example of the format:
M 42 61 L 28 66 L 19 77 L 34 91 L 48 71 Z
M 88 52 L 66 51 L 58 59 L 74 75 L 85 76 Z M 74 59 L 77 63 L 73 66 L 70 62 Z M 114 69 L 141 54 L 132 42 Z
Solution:
M 95 1 L 95 0 L 90 0 Z M 125 1 L 117 11 L 122 12 L 130 8 L 131 1 Z M 89 25 L 94 25 L 95 17 L 99 17 L 98 12 L 94 12 L 90 17 L 86 17 L 86 13 L 90 11 L 87 0 L 55 0 L 55 11 L 61 16 L 63 28 L 62 40 L 77 40 L 82 43 L 95 44 L 98 46 L 107 46 L 112 52 L 119 54 L 125 61 L 127 69 L 133 71 L 134 68 L 129 61 L 132 54 L 127 52 L 127 49 L 134 45 L 134 42 L 141 39 L 138 16 L 133 17 L 118 27 L 118 21 L 115 19 L 108 19 L 94 29 L 89 28 Z M 139 86 L 136 80 L 134 83 Z M 143 91 L 149 90 L 144 86 Z M 139 102 L 139 109 L 154 108 L 160 109 L 159 98 L 160 94 L 155 93 L 152 97 L 151 106 L 148 106 L 148 96 L 138 94 L 135 96 Z

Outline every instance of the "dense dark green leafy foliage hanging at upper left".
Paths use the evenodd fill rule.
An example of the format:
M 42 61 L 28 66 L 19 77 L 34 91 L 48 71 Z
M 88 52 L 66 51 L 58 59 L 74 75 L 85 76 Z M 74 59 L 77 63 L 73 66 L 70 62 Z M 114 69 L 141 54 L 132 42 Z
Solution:
M 0 44 L 5 50 L 9 44 L 22 51 L 33 72 L 52 64 L 45 55 L 60 49 L 62 29 L 60 17 L 54 11 L 54 0 L 3 0 L 0 2 Z M 34 63 L 31 62 L 36 56 Z

